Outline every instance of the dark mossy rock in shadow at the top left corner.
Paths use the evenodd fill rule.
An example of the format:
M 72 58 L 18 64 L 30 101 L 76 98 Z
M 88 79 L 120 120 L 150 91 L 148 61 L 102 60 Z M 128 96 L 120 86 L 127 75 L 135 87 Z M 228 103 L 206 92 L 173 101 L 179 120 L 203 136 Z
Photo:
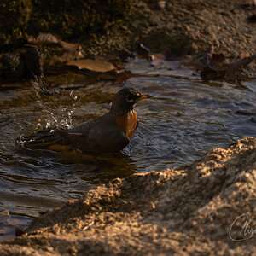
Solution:
M 104 32 L 129 9 L 124 0 L 3 0 L 0 3 L 0 49 L 18 46 L 27 34 L 50 32 L 62 39 L 84 39 Z

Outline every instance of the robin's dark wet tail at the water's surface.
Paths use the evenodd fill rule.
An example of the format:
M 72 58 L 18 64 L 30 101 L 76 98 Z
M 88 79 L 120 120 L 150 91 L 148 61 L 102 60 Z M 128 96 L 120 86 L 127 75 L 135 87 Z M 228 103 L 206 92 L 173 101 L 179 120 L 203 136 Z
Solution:
M 20 137 L 18 143 L 24 148 L 49 148 L 51 145 L 61 143 L 61 138 L 54 130 L 43 130 L 29 137 Z

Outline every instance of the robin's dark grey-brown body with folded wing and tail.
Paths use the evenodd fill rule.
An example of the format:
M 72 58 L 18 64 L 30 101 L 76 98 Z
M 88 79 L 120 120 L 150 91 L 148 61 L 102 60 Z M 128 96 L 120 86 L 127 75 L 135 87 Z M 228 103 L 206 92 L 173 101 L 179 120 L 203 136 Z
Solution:
M 61 144 L 84 152 L 112 153 L 122 150 L 129 142 L 122 128 L 106 115 L 69 130 L 39 131 L 33 137 L 26 138 L 25 146 L 45 148 Z

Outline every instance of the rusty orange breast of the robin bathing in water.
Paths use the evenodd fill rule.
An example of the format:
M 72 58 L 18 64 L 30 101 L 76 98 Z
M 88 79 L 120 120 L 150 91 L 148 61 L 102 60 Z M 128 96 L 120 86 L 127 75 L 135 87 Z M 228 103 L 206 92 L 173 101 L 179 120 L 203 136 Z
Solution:
M 137 113 L 132 110 L 124 116 L 116 119 L 117 125 L 123 128 L 127 137 L 131 138 L 133 132 L 137 128 Z

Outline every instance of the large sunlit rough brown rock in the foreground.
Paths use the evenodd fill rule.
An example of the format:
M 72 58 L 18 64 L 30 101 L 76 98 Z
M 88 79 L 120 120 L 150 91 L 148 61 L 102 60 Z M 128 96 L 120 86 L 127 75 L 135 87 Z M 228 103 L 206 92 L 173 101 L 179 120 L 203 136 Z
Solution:
M 247 137 L 191 166 L 90 190 L 36 218 L 0 254 L 252 255 L 255 176 L 256 138 Z

